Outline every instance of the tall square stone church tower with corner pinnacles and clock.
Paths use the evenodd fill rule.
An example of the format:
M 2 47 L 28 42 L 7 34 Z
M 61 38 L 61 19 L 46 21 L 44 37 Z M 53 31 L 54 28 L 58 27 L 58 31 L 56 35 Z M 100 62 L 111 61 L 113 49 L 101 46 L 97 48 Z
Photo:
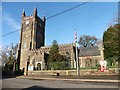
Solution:
M 17 60 L 19 59 L 19 68 L 25 72 L 28 69 L 30 51 L 44 46 L 45 20 L 45 16 L 43 19 L 37 16 L 37 8 L 34 9 L 33 15 L 31 16 L 26 16 L 24 10 L 22 12 Z

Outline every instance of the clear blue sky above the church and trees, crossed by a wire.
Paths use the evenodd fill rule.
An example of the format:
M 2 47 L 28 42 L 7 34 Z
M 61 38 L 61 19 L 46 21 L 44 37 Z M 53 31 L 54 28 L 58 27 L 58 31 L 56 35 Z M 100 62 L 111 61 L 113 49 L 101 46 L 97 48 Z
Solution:
M 21 14 L 32 15 L 35 6 L 38 16 L 47 17 L 79 5 L 82 2 L 3 2 L 2 3 L 2 34 L 20 29 Z M 74 42 L 76 29 L 80 35 L 94 35 L 102 38 L 103 32 L 113 23 L 118 14 L 117 2 L 90 2 L 81 7 L 63 13 L 46 21 L 45 45 L 51 45 L 53 40 L 59 44 Z M 10 45 L 19 42 L 20 32 L 2 38 L 2 44 Z

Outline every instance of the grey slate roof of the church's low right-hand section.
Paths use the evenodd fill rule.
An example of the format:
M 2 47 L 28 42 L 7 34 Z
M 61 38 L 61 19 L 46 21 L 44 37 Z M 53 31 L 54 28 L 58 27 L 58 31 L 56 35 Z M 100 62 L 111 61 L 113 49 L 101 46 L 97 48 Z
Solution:
M 97 46 L 95 47 L 80 47 L 79 56 L 98 56 L 100 55 L 100 50 Z

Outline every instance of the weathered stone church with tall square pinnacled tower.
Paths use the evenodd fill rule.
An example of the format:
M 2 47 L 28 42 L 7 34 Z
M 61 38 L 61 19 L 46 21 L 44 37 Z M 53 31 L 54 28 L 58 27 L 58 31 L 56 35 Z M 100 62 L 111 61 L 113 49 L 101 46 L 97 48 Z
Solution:
M 36 70 L 39 66 L 39 70 L 47 69 L 47 58 L 49 56 L 50 46 L 45 45 L 45 23 L 46 18 L 40 18 L 37 15 L 37 8 L 34 9 L 33 15 L 26 16 L 25 11 L 22 12 L 20 41 L 17 49 L 17 62 L 19 69 L 24 70 L 24 75 L 29 70 Z M 90 49 L 93 50 L 93 49 Z M 86 67 L 89 64 L 89 60 L 92 60 L 92 65 L 95 66 L 101 59 L 103 59 L 103 50 L 99 47 L 96 48 L 97 54 L 88 55 L 84 53 L 87 49 L 82 48 L 79 52 L 79 64 L 80 67 Z M 75 44 L 62 44 L 59 45 L 59 53 L 70 57 L 71 68 L 76 68 L 75 59 Z M 86 54 L 89 56 L 89 60 L 86 60 Z M 94 55 L 96 54 L 96 55 Z M 95 57 L 95 60 L 93 59 Z M 86 62 L 88 61 L 88 62 Z

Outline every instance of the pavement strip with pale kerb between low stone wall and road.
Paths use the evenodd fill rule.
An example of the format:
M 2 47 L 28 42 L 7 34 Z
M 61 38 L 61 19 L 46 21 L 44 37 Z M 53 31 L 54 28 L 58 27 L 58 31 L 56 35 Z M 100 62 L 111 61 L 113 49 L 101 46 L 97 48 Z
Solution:
M 17 76 L 16 78 L 32 80 L 64 80 L 64 81 L 84 81 L 84 82 L 111 82 L 118 83 L 118 75 L 99 75 L 99 76 Z

